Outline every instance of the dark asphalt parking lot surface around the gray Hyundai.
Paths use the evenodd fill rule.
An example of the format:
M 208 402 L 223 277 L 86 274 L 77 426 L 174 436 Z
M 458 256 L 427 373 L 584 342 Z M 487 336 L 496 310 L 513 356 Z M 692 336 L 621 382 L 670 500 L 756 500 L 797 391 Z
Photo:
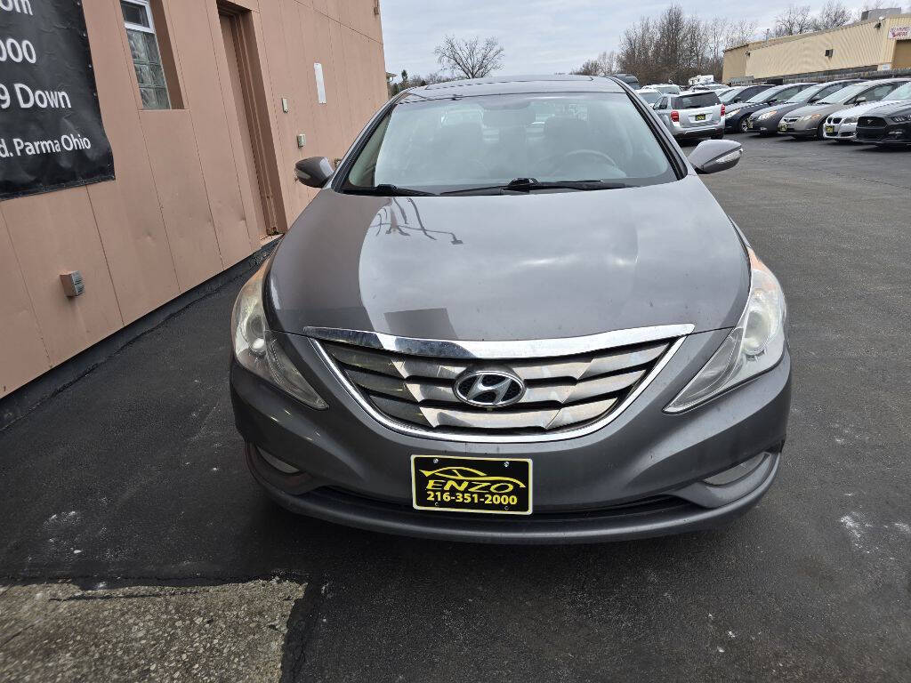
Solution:
M 569 547 L 286 513 L 232 425 L 237 280 L 0 432 L 0 679 L 911 680 L 911 150 L 742 141 L 706 182 L 795 372 L 751 513 Z

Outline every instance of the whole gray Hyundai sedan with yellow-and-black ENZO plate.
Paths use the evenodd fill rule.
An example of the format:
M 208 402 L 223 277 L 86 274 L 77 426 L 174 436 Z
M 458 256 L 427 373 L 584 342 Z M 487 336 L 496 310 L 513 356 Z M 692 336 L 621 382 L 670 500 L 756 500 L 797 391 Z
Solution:
M 584 543 L 720 525 L 772 485 L 782 288 L 630 87 L 407 90 L 242 288 L 230 390 L 255 479 L 395 534 Z

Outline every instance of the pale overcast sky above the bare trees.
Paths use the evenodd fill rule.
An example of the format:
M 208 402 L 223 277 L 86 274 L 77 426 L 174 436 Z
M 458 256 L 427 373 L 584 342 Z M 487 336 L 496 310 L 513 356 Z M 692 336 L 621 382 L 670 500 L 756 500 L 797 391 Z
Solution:
M 774 16 L 789 3 L 679 1 L 685 12 L 702 19 L 725 15 L 732 21 L 755 19 L 763 28 L 773 25 Z M 616 49 L 627 26 L 641 15 L 660 14 L 669 4 L 656 0 L 382 0 L 386 70 L 394 74 L 404 68 L 411 74 L 437 71 L 434 47 L 449 33 L 499 38 L 506 51 L 499 72 L 504 75 L 568 72 L 601 51 Z M 823 0 L 810 0 L 810 4 L 815 11 Z

